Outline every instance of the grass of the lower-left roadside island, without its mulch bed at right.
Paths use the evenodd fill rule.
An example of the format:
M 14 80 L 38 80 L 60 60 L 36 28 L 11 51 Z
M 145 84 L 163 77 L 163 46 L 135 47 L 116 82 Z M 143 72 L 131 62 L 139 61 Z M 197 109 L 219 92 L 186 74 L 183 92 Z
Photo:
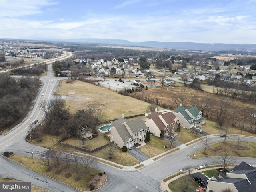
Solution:
M 82 167 L 80 167 L 80 173 L 79 175 L 82 177 L 81 180 L 76 181 L 75 178 L 77 177 L 76 173 L 73 171 L 72 176 L 69 178 L 65 177 L 66 172 L 62 170 L 60 174 L 55 174 L 56 169 L 52 169 L 49 172 L 46 172 L 46 166 L 43 166 L 41 163 L 41 160 L 38 158 L 34 158 L 34 163 L 32 163 L 32 158 L 27 156 L 22 156 L 18 154 L 14 154 L 14 156 L 10 157 L 10 159 L 14 160 L 15 162 L 28 167 L 36 172 L 42 173 L 48 177 L 54 178 L 58 181 L 61 181 L 65 184 L 68 184 L 74 188 L 77 188 L 79 190 L 86 190 L 86 184 L 91 176 L 97 175 L 100 173 L 100 170 L 90 168 L 90 174 L 84 174 L 82 172 Z M 72 171 L 72 170 L 71 170 Z

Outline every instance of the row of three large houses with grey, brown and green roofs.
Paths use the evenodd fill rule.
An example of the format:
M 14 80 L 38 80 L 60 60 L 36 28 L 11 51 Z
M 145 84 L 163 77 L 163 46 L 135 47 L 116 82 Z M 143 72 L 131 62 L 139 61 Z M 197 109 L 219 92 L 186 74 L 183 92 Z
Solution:
M 130 148 L 145 144 L 144 140 L 148 131 L 157 137 L 160 137 L 161 132 L 163 132 L 166 137 L 175 132 L 179 124 L 190 129 L 194 126 L 202 126 L 206 120 L 198 108 L 185 108 L 182 104 L 173 112 L 168 110 L 161 112 L 156 109 L 145 116 L 146 122 L 142 118 L 130 121 L 124 117 L 118 118 L 112 123 L 110 141 L 114 141 L 120 148 L 123 146 Z

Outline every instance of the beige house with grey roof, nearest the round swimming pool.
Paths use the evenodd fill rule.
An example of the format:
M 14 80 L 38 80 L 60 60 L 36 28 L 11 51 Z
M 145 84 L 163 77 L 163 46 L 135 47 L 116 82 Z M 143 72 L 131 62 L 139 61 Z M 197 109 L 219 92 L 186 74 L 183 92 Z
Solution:
M 120 148 L 133 147 L 134 144 L 144 144 L 148 127 L 141 118 L 131 121 L 118 118 L 112 123 L 110 141 L 114 141 Z

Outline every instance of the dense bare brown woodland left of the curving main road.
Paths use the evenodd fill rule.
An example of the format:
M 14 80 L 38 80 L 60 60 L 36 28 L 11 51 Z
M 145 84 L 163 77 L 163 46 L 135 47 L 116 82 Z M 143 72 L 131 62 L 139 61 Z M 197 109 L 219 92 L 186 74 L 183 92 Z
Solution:
M 35 76 L 17 79 L 7 75 L 0 76 L 0 131 L 14 125 L 26 115 L 39 86 L 39 78 Z

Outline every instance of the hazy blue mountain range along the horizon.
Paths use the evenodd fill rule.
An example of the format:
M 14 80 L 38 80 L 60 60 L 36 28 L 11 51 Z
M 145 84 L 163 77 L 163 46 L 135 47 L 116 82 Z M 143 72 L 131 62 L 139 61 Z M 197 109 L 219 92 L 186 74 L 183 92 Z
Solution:
M 57 40 L 57 41 L 92 43 L 92 44 L 108 44 L 108 45 L 118 45 L 118 46 L 156 47 L 156 48 L 168 48 L 168 49 L 256 52 L 256 44 L 224 44 L 224 43 L 210 44 L 210 43 L 160 42 L 160 41 L 131 42 L 131 41 L 122 40 L 122 39 L 65 39 L 65 40 Z

